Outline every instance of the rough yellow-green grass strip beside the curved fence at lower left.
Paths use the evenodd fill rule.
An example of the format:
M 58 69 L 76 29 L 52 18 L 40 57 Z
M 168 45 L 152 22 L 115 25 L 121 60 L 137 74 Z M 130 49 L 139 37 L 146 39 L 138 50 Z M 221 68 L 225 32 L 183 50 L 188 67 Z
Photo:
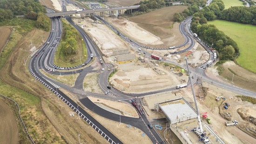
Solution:
M 19 104 L 20 116 L 23 119 L 28 132 L 35 143 L 63 143 L 62 139 L 53 138 L 58 136 L 52 135 L 52 127 L 49 127 L 50 123 L 42 111 L 39 97 L 8 85 L 2 80 L 0 80 L 0 93 L 7 96 L 8 98 L 15 100 Z M 25 135 L 23 139 L 26 140 Z

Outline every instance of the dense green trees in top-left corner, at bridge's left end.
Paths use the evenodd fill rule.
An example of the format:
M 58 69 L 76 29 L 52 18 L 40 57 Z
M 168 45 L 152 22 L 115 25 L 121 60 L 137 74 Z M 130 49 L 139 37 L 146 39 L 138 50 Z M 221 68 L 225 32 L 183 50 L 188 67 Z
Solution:
M 46 8 L 38 0 L 0 0 L 0 22 L 12 20 L 17 15 L 36 20 L 36 27 L 48 31 L 50 19 L 44 14 Z

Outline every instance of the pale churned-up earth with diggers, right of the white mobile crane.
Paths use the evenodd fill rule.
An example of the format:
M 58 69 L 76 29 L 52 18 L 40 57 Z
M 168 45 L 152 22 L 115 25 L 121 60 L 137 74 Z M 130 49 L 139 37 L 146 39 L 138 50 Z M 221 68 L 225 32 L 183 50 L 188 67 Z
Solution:
M 217 134 L 222 137 L 222 140 L 229 144 L 253 144 L 256 139 L 244 132 L 245 127 L 243 128 L 243 131 L 240 130 L 242 128 L 238 128 L 240 125 L 248 125 L 248 121 L 243 120 L 237 110 L 239 109 L 240 111 L 246 111 L 248 115 L 255 116 L 255 111 L 248 111 L 248 109 L 255 109 L 256 106 L 249 102 L 243 102 L 240 98 L 236 98 L 236 93 L 229 92 L 214 85 L 205 83 L 203 83 L 203 86 L 208 88 L 207 96 L 205 98 L 200 98 L 197 106 L 199 108 L 199 112 L 208 112 L 207 115 L 211 118 L 211 126 L 213 127 L 214 131 L 216 131 Z M 221 96 L 226 99 L 223 100 L 221 98 L 220 101 L 216 101 L 216 97 Z M 224 103 L 226 102 L 230 105 L 228 110 L 223 108 Z M 238 121 L 238 126 L 225 126 L 225 121 L 234 119 Z M 252 125 L 248 125 L 247 127 L 251 128 L 251 126 Z M 223 129 L 223 127 L 225 127 L 225 129 Z

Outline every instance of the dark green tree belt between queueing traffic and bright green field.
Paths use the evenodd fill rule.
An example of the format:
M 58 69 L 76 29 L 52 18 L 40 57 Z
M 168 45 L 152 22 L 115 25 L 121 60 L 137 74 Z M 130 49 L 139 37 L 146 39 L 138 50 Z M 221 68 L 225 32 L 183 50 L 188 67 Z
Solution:
M 213 0 L 209 7 L 204 7 L 193 14 L 190 28 L 204 42 L 219 52 L 220 60 L 234 60 L 235 56 L 239 54 L 236 42 L 219 31 L 216 26 L 207 24 L 208 20 L 215 20 L 220 17 L 224 8 L 222 0 Z

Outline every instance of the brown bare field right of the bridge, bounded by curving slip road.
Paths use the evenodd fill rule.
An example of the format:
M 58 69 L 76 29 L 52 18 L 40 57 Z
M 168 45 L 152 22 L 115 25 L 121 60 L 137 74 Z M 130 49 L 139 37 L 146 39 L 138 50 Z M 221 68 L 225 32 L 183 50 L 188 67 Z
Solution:
M 174 22 L 174 13 L 181 13 L 186 8 L 187 6 L 165 7 L 150 13 L 131 17 L 129 20 L 138 23 L 138 26 L 158 36 L 163 42 L 162 44 L 149 44 L 149 46 L 154 47 L 154 45 L 157 45 L 155 46 L 156 48 L 177 46 L 182 44 L 184 38 L 179 32 L 179 23 Z

